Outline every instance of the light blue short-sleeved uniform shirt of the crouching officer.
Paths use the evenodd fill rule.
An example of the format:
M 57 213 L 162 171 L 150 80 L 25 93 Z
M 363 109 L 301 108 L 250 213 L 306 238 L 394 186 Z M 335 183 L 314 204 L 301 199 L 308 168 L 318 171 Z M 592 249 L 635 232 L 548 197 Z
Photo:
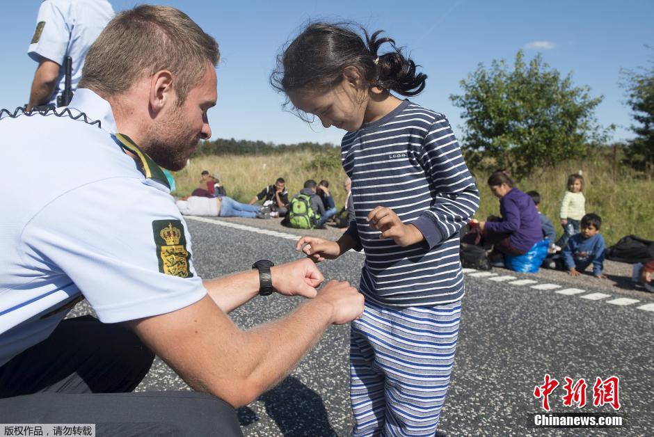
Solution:
M 137 168 L 95 93 L 78 90 L 69 108 L 102 129 L 51 112 L 0 120 L 0 365 L 47 338 L 81 295 L 115 323 L 207 294 L 161 169 L 147 157 Z

